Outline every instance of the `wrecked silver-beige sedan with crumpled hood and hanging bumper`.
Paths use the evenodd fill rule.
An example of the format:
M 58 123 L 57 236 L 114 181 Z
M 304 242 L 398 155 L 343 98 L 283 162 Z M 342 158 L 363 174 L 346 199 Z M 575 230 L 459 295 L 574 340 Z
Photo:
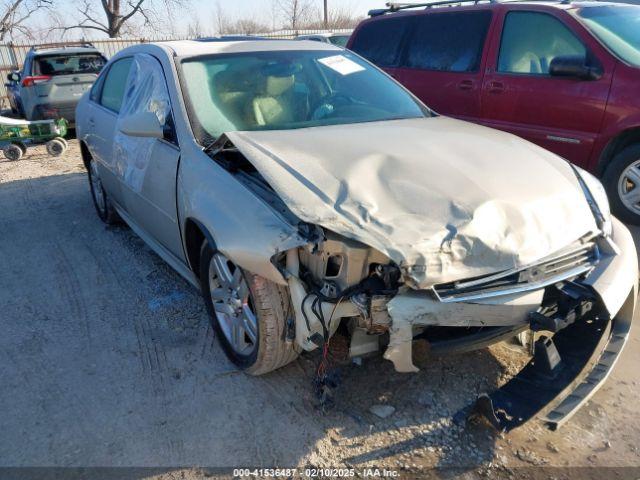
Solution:
M 637 312 L 638 262 L 599 181 L 515 136 L 438 116 L 312 42 L 169 42 L 111 59 L 80 102 L 93 200 L 200 288 L 250 374 L 326 346 L 433 353 L 533 331 L 469 414 L 565 421 Z

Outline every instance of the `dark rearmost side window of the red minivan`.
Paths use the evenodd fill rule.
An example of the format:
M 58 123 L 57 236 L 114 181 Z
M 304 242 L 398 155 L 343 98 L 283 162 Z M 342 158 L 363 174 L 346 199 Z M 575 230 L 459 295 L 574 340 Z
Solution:
M 397 16 L 365 23 L 358 30 L 351 50 L 378 66 L 394 66 L 409 22 L 410 17 Z

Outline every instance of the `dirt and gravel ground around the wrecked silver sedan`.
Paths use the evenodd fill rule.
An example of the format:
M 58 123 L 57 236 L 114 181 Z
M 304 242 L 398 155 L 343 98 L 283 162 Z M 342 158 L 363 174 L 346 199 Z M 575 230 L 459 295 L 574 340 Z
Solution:
M 416 375 L 381 358 L 348 365 L 323 414 L 313 356 L 260 378 L 236 371 L 199 294 L 128 228 L 98 220 L 77 144 L 43 153 L 0 161 L 0 466 L 167 467 L 167 478 L 200 478 L 185 466 L 438 466 L 468 478 L 640 467 L 640 329 L 555 433 L 454 423 L 522 361 L 506 346 L 428 359 Z M 376 404 L 395 412 L 378 418 Z

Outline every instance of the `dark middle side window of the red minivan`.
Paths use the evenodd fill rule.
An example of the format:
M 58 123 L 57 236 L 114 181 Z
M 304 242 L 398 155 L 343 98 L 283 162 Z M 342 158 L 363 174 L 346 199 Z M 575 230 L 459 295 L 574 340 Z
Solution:
M 445 72 L 480 68 L 491 12 L 433 13 L 416 19 L 405 66 Z

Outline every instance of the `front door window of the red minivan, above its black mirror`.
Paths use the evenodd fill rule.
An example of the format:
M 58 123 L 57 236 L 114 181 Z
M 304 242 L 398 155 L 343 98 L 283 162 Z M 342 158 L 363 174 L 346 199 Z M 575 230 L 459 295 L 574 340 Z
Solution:
M 504 23 L 498 71 L 548 75 L 558 56 L 587 56 L 582 42 L 557 18 L 546 13 L 510 12 Z

